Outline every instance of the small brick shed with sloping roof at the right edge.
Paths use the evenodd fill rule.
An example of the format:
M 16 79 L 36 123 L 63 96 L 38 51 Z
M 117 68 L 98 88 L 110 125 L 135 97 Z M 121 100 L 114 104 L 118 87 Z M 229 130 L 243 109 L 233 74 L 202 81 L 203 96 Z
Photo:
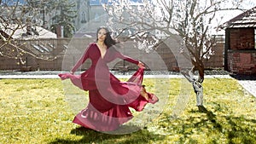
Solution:
M 256 7 L 224 23 L 224 69 L 234 74 L 256 74 Z

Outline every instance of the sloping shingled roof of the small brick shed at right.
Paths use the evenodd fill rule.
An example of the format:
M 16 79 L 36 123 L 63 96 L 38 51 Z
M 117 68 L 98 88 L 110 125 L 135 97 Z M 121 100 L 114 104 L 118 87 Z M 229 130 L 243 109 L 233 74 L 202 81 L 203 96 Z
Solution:
M 222 26 L 224 28 L 256 27 L 256 7 L 237 15 Z

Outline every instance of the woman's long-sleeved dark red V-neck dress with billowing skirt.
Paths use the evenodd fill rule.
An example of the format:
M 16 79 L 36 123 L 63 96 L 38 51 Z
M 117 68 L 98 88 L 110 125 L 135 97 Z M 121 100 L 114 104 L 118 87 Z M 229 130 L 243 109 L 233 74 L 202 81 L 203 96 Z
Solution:
M 128 56 L 122 55 L 114 48 L 108 48 L 102 57 L 96 43 L 90 43 L 84 55 L 73 66 L 75 72 L 85 60 L 91 60 L 91 66 L 80 75 L 61 73 L 62 80 L 70 78 L 80 89 L 89 90 L 89 104 L 73 119 L 73 123 L 97 131 L 110 131 L 119 128 L 133 116 L 129 107 L 142 111 L 149 103 L 155 103 L 158 98 L 146 92 L 148 100 L 141 95 L 143 89 L 143 69 L 139 68 L 127 82 L 121 82 L 108 69 L 108 63 L 116 58 L 138 64 Z

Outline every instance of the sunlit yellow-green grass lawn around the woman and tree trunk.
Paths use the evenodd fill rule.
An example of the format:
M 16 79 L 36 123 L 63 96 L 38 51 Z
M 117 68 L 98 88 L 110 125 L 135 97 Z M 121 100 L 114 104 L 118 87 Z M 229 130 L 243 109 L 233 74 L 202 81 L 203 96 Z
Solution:
M 134 123 L 143 127 L 124 135 L 73 124 L 86 104 L 70 95 L 82 93 L 86 103 L 87 93 L 66 88 L 68 84 L 59 79 L 1 79 L 0 143 L 256 143 L 256 100 L 234 79 L 206 79 L 207 111 L 199 112 L 190 84 L 179 78 L 145 78 L 143 84 L 160 102 L 135 112 Z

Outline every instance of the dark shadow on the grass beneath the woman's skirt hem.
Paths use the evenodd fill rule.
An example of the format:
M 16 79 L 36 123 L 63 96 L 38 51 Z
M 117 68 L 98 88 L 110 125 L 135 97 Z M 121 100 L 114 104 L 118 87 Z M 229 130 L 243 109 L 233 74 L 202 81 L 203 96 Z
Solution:
M 129 127 L 129 126 L 128 126 Z M 133 126 L 132 126 L 133 127 Z M 134 129 L 134 128 L 127 128 Z M 71 135 L 82 135 L 83 137 L 79 140 L 67 140 L 67 139 L 56 139 L 50 142 L 50 144 L 79 144 L 79 143 L 148 143 L 148 141 L 160 141 L 164 138 L 164 135 L 154 135 L 148 130 L 137 130 L 131 134 L 125 135 L 111 135 L 95 130 L 86 129 L 79 127 L 71 130 Z

